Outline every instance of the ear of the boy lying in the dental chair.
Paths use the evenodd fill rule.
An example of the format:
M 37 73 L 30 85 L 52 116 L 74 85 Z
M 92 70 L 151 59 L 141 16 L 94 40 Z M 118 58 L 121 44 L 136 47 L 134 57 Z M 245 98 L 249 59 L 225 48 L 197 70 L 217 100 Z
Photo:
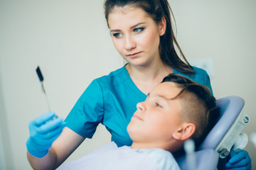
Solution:
M 196 131 L 196 125 L 193 123 L 184 123 L 181 128 L 174 132 L 173 137 L 176 140 L 188 140 Z

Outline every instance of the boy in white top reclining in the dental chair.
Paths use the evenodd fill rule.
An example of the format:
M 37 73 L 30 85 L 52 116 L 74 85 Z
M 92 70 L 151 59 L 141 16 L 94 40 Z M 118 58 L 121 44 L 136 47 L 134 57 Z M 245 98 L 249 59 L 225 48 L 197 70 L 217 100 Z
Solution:
M 60 169 L 179 169 L 172 154 L 189 138 L 198 146 L 218 115 L 206 86 L 170 74 L 137 104 L 127 127 L 131 147 L 112 142 Z

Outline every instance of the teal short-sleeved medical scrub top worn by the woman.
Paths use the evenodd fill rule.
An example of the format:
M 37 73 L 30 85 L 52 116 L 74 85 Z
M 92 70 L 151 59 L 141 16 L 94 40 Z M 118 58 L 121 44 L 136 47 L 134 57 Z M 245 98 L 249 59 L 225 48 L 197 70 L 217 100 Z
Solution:
M 212 91 L 207 72 L 197 67 L 193 69 L 194 75 L 183 74 L 177 69 L 174 69 L 174 73 L 206 85 Z M 93 80 L 75 103 L 65 123 L 68 128 L 86 138 L 91 138 L 97 125 L 102 123 L 118 147 L 130 146 L 132 140 L 128 135 L 127 125 L 137 110 L 137 103 L 144 100 L 146 95 L 137 88 L 124 66 Z

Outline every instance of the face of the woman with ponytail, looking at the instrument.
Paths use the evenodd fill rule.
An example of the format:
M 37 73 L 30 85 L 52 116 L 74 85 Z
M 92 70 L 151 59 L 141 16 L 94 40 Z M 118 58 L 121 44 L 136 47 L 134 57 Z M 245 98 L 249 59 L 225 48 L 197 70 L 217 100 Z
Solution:
M 159 42 L 165 28 L 142 8 L 116 6 L 109 14 L 108 24 L 114 47 L 127 62 L 144 66 L 160 61 Z

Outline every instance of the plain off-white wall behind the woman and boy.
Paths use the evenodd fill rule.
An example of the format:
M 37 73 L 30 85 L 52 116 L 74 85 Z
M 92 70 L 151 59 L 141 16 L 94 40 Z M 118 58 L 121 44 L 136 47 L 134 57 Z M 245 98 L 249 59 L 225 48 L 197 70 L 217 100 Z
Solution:
M 245 98 L 255 132 L 256 1 L 169 0 L 178 42 L 188 61 L 210 58 L 217 98 Z M 40 65 L 50 106 L 65 118 L 92 79 L 122 67 L 103 13 L 103 0 L 0 0 L 0 144 L 5 169 L 31 169 L 28 123 L 47 112 L 36 76 Z M 68 161 L 110 141 L 100 126 Z M 256 149 L 247 151 L 255 168 Z M 252 168 L 253 169 L 253 168 Z

